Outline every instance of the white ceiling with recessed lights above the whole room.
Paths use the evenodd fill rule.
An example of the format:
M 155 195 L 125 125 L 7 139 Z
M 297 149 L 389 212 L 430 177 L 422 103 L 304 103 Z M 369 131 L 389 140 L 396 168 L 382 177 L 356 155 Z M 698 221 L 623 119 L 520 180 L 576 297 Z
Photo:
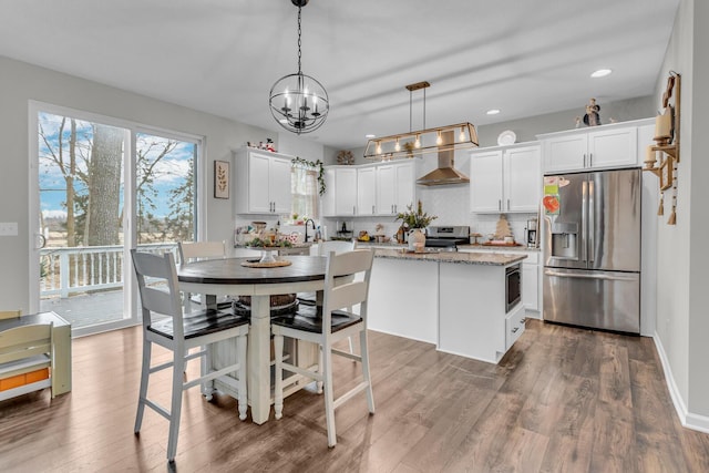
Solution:
M 331 109 L 304 136 L 346 148 L 367 133 L 408 131 L 404 85 L 424 80 L 429 127 L 648 95 L 678 3 L 311 0 L 302 71 L 326 86 Z M 0 0 L 0 55 L 281 130 L 268 92 L 297 71 L 290 0 Z M 600 68 L 614 73 L 590 79 Z M 413 97 L 421 128 L 421 92 Z

